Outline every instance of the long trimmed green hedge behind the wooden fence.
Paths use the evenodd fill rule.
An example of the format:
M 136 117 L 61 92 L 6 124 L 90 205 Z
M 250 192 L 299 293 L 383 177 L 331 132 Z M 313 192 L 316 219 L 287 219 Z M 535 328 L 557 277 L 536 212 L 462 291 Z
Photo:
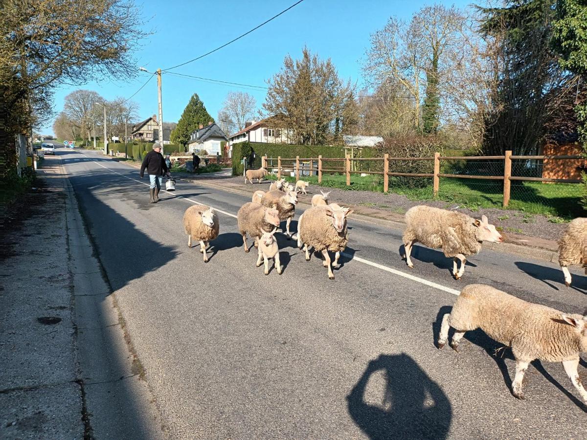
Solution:
M 336 147 L 333 145 L 292 145 L 292 144 L 270 144 L 261 142 L 239 142 L 232 144 L 232 175 L 242 175 L 242 158 L 251 157 L 255 153 L 255 157 L 272 157 L 279 156 L 284 158 L 299 157 L 318 157 L 322 155 L 323 158 L 331 157 L 345 157 L 345 147 Z M 377 148 L 362 148 L 361 157 L 377 157 L 379 150 Z

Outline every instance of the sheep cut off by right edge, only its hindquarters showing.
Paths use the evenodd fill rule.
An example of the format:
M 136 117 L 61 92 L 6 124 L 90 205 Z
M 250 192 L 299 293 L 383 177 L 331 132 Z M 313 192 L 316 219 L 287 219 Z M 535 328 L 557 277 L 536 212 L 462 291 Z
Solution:
M 569 265 L 581 265 L 587 274 L 587 218 L 576 218 L 566 227 L 558 241 L 558 262 L 565 275 L 565 285 L 571 285 Z

